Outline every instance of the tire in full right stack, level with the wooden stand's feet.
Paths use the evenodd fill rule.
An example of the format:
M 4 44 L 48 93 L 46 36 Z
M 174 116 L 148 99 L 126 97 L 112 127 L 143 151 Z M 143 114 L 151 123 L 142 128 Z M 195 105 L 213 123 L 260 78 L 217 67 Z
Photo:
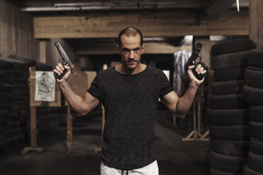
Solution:
M 249 140 L 250 128 L 248 125 L 216 126 L 209 125 L 211 138 L 220 140 Z

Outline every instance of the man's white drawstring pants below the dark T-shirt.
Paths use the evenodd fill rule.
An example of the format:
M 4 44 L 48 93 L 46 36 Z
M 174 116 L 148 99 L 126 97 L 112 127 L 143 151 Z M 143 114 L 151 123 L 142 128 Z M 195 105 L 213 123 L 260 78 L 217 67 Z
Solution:
M 112 167 L 107 167 L 103 162 L 100 164 L 100 174 L 101 175 L 158 175 L 159 169 L 157 161 L 154 161 L 151 164 L 146 165 L 140 169 L 132 169 L 129 171 L 115 169 Z

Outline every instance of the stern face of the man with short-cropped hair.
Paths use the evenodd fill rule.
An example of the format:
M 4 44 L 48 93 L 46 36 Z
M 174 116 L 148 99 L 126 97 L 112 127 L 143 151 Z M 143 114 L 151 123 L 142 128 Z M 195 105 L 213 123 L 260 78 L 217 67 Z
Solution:
M 121 39 L 122 46 L 118 46 L 118 49 L 122 57 L 122 64 L 129 70 L 134 70 L 141 63 L 141 54 L 144 53 L 144 45 L 141 46 L 141 37 L 139 34 L 134 37 L 122 35 Z

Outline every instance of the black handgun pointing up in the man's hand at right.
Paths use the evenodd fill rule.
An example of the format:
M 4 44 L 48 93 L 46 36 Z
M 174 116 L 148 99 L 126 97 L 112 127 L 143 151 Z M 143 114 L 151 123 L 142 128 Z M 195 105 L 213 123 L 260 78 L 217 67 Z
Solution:
M 201 44 L 201 42 L 197 42 L 197 46 L 194 47 L 192 55 L 190 56 L 190 58 L 188 59 L 187 63 L 185 64 L 185 73 L 187 73 L 188 70 L 188 66 L 192 66 L 194 65 L 194 68 L 192 69 L 192 73 L 194 73 L 194 76 L 198 79 L 198 80 L 202 80 L 204 78 L 204 74 L 198 74 L 197 71 L 195 71 L 195 69 L 197 68 L 197 65 L 201 63 L 201 57 L 198 55 L 201 47 L 203 44 Z

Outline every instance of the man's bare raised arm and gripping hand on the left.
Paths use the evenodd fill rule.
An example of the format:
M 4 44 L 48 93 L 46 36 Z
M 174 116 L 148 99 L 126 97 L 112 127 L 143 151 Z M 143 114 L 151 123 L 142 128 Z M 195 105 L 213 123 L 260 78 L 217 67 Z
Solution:
M 62 64 L 58 64 L 56 69 L 54 69 L 54 73 L 63 73 L 64 68 L 66 68 L 67 73 L 61 80 L 57 80 L 59 86 L 66 98 L 66 101 L 69 103 L 71 109 L 76 112 L 76 115 L 83 116 L 88 114 L 88 112 L 92 111 L 95 107 L 100 104 L 100 101 L 90 95 L 88 92 L 83 97 L 80 97 L 75 94 L 75 92 L 71 89 L 68 83 L 69 76 L 71 74 L 69 66 L 62 66 Z

